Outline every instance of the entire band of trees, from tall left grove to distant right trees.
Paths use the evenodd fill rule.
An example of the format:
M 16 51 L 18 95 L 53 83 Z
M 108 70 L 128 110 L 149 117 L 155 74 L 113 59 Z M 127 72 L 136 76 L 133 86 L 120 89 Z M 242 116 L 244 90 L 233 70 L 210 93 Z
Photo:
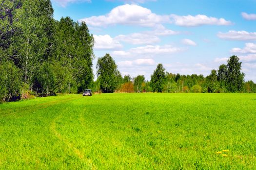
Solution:
M 244 82 L 241 63 L 203 75 L 166 72 L 161 64 L 146 81 L 144 75 L 121 76 L 114 59 L 98 58 L 94 82 L 94 38 L 85 22 L 53 18 L 50 0 L 0 0 L 0 102 L 57 93 L 95 92 L 256 92 Z

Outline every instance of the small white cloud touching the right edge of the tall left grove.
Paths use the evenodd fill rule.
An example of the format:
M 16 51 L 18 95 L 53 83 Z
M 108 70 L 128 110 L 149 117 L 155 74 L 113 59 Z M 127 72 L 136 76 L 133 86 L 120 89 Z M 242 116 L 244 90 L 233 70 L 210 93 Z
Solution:
M 93 35 L 95 40 L 94 49 L 96 50 L 116 50 L 123 46 L 110 35 Z

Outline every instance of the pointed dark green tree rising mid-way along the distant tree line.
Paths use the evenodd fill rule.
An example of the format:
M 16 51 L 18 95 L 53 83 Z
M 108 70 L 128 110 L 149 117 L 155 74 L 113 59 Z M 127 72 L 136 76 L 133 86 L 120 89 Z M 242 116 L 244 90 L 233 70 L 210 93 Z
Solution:
M 165 79 L 165 69 L 162 64 L 158 64 L 150 80 L 153 92 L 163 92 Z

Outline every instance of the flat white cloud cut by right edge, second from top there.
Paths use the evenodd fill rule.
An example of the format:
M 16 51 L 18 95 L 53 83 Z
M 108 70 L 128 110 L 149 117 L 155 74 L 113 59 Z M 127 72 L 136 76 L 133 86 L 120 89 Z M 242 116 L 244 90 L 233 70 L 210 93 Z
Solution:
M 221 39 L 226 40 L 238 40 L 238 41 L 247 41 L 247 40 L 256 40 L 256 32 L 248 33 L 246 31 L 229 31 L 228 33 L 219 32 L 217 36 Z

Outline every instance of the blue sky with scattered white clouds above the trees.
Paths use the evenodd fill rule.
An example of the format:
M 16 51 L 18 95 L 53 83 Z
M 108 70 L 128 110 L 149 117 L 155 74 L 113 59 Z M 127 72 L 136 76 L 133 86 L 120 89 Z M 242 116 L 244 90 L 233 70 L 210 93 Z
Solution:
M 98 57 L 110 53 L 122 75 L 209 75 L 237 55 L 256 82 L 256 0 L 52 0 L 54 18 L 85 21 Z

